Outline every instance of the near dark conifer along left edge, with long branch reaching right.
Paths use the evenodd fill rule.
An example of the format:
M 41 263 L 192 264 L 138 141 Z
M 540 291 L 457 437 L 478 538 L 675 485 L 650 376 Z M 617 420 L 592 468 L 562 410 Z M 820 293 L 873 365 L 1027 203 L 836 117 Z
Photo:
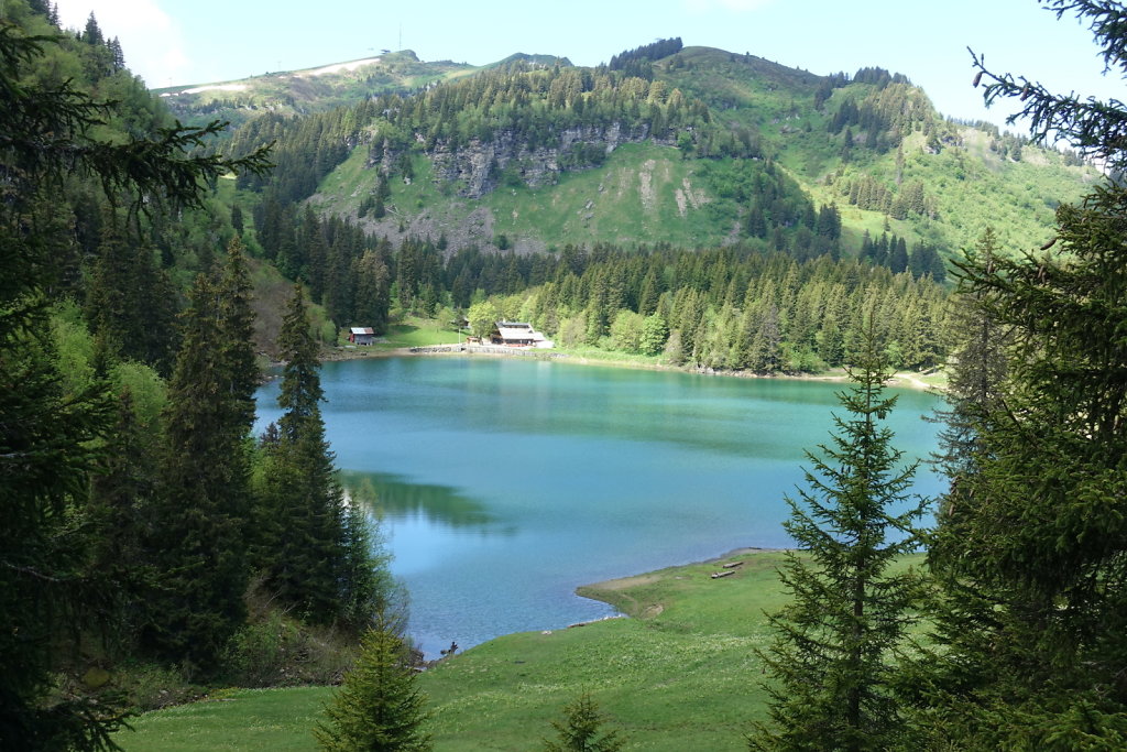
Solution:
M 94 541 L 83 527 L 91 471 L 112 434 L 114 404 L 95 380 L 68 393 L 48 339 L 48 294 L 71 253 L 66 195 L 74 182 L 140 206 L 203 201 L 204 180 L 257 168 L 186 150 L 218 130 L 175 127 L 100 140 L 108 109 L 76 81 L 34 82 L 28 71 L 56 38 L 0 21 L 0 747 L 107 749 L 119 725 L 113 704 L 56 687 L 57 648 L 95 627 L 106 587 L 85 576 Z M 89 510 L 94 513 L 94 510 Z M 87 608 L 89 607 L 89 608 Z M 95 608 L 97 607 L 97 608 Z M 60 628 L 66 625 L 70 629 Z

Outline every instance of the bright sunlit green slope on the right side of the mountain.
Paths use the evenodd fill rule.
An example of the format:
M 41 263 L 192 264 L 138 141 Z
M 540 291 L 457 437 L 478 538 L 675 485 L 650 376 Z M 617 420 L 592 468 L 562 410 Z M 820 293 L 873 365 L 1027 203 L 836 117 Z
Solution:
M 842 177 L 868 175 L 890 188 L 923 182 L 938 216 L 889 218 L 888 225 L 896 235 L 949 251 L 973 246 L 987 224 L 1010 249 L 1040 245 L 1056 206 L 1077 200 L 1099 177 L 1091 167 L 1066 165 L 1054 150 L 1026 144 L 1020 161 L 1002 156 L 994 130 L 943 122 L 930 101 L 926 121 L 941 136 L 938 153 L 928 147 L 924 122 L 914 124 L 904 138 L 903 169 L 897 168 L 896 149 L 881 153 L 855 147 L 844 160 L 843 134 L 829 134 L 827 127 L 843 101 L 875 95 L 872 85 L 853 82 L 835 89 L 819 109 L 813 105 L 822 77 L 716 50 L 686 48 L 676 57 L 685 63 L 658 63 L 663 78 L 703 98 L 726 122 L 758 127 L 779 162 L 817 202 L 836 202 L 846 231 L 858 238 L 864 230 L 881 232 L 886 214 L 850 206 L 846 195 L 834 187 Z M 854 131 L 854 141 L 860 140 Z

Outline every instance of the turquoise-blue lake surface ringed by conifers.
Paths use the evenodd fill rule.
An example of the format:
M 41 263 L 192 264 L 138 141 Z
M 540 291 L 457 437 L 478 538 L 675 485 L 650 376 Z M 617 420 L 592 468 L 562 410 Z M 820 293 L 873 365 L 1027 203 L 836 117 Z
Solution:
M 578 585 L 791 545 L 783 496 L 843 388 L 516 357 L 335 362 L 321 381 L 337 466 L 374 492 L 429 657 L 613 613 Z M 258 392 L 258 431 L 277 389 Z M 890 392 L 896 445 L 926 457 L 935 398 Z M 917 474 L 917 493 L 940 487 Z

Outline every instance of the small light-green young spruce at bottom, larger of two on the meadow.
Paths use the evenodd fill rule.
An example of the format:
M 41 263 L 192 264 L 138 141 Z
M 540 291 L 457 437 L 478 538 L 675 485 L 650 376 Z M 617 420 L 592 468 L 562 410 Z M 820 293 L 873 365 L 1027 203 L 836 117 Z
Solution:
M 313 735 L 332 752 L 425 752 L 429 713 L 410 651 L 381 616 L 361 640 L 356 665 L 325 708 Z

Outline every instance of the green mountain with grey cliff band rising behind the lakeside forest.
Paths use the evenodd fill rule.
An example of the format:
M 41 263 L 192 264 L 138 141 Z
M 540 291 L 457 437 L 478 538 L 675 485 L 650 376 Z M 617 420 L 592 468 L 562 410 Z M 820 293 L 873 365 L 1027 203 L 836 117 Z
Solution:
M 807 218 L 836 205 L 845 253 L 889 232 L 955 255 L 987 224 L 1015 251 L 1042 244 L 1055 207 L 1099 178 L 993 126 L 943 121 L 925 92 L 879 69 L 822 77 L 710 47 L 644 61 L 640 78 L 524 54 L 481 68 L 410 51 L 360 62 L 162 96 L 187 121 L 236 124 L 366 104 L 347 135 L 301 147 L 296 162 L 326 169 L 299 197 L 317 185 L 326 214 L 392 241 L 444 237 L 451 250 L 778 245 L 773 228 L 792 236 L 800 206 L 749 229 L 756 207 L 772 213 L 761 174 L 778 169 Z M 347 158 L 325 161 L 331 151 Z M 382 216 L 365 209 L 381 179 Z

